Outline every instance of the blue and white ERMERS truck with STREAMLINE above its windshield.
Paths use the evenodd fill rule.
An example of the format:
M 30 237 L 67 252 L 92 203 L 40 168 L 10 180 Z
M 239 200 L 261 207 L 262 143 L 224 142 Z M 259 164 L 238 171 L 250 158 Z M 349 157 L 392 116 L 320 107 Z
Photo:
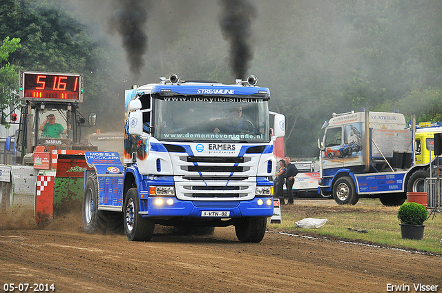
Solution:
M 272 141 L 285 134 L 282 114 L 270 121 L 269 89 L 254 76 L 160 81 L 126 90 L 123 162 L 86 152 L 84 231 L 124 227 L 128 240 L 148 241 L 155 224 L 234 225 L 240 241 L 260 242 L 273 215 Z

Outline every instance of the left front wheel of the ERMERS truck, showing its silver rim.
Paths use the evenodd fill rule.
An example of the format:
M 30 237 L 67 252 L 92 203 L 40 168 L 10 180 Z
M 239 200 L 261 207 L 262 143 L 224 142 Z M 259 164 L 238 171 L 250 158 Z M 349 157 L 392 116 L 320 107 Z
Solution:
M 131 188 L 124 199 L 124 233 L 129 241 L 149 241 L 155 222 L 140 215 L 140 201 L 137 188 Z

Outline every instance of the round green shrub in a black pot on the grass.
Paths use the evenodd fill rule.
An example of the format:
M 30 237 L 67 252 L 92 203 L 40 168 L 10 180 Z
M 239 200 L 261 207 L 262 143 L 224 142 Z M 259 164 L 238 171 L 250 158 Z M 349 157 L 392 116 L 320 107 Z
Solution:
M 401 233 L 404 239 L 421 240 L 423 237 L 423 222 L 427 219 L 427 208 L 419 203 L 404 203 L 398 210 L 401 221 Z

